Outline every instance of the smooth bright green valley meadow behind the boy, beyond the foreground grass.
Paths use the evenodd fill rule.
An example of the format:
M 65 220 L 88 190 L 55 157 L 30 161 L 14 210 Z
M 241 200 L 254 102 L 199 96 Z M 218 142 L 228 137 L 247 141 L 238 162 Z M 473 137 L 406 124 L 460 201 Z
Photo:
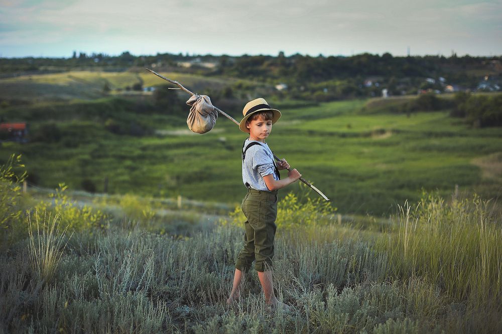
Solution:
M 77 77 L 98 83 L 104 77 L 115 86 L 124 86 L 141 76 L 148 86 L 148 80 L 156 79 L 148 73 L 58 75 L 34 80 L 64 85 Z M 191 85 L 188 75 L 170 76 Z M 65 77 L 67 81 L 63 80 Z M 200 82 L 200 78 L 192 77 L 194 83 Z M 2 84 L 9 80 L 21 79 L 2 80 Z M 120 136 L 107 132 L 102 119 L 111 115 L 164 130 L 185 130 L 186 125 L 179 117 L 137 114 L 127 103 L 116 106 L 110 99 L 89 102 L 94 103 L 90 105 L 73 103 L 3 111 L 31 119 L 34 129 L 40 124 L 37 119 L 54 118 L 66 137 L 55 144 L 4 143 L 0 157 L 5 160 L 13 152 L 22 152 L 29 171 L 38 176 L 44 187 L 54 188 L 59 182 L 66 182 L 70 188 L 78 189 L 81 181 L 89 178 L 97 191 L 102 191 L 107 177 L 111 193 L 182 194 L 228 203 L 237 203 L 242 197 L 239 150 L 246 136 L 223 116 L 204 135 L 175 135 L 168 131 L 164 136 Z M 366 112 L 358 112 L 363 106 Z M 382 103 L 378 106 L 382 108 Z M 456 184 L 461 189 L 475 187 L 487 197 L 498 195 L 500 180 L 483 181 L 479 163 L 473 160 L 500 151 L 499 129 L 470 129 L 455 123 L 457 120 L 448 117 L 447 112 L 407 117 L 373 114 L 367 109 L 366 100 L 285 108 L 268 142 L 279 156 L 286 157 L 331 198 L 341 212 L 388 214 L 394 211 L 395 203 L 419 199 L 422 188 L 437 188 L 446 196 Z M 239 110 L 225 111 L 240 118 Z M 104 114 L 108 116 L 103 117 Z M 283 194 L 290 190 L 299 188 L 290 186 Z

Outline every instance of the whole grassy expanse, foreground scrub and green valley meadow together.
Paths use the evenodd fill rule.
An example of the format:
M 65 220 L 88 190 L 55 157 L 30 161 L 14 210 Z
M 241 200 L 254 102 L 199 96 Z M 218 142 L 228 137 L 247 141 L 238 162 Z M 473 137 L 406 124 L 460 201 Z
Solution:
M 229 307 L 245 135 L 221 118 L 205 135 L 183 135 L 184 117 L 137 107 L 148 97 L 71 100 L 79 85 L 146 85 L 144 74 L 70 75 L 18 79 L 65 102 L 28 97 L 0 111 L 62 133 L 0 147 L 0 332 L 502 331 L 502 217 L 487 200 L 500 195 L 499 129 L 469 128 L 448 110 L 407 117 L 384 102 L 287 102 L 269 144 L 332 202 L 299 185 L 280 198 L 274 282 L 294 311 L 265 307 L 256 272 Z M 0 85 L 19 87 L 9 80 Z M 108 117 L 165 131 L 115 135 Z M 30 182 L 56 191 L 22 193 L 24 166 Z M 109 194 L 67 190 L 91 180 L 100 192 L 105 177 Z M 51 213 L 36 220 L 44 232 L 27 210 Z

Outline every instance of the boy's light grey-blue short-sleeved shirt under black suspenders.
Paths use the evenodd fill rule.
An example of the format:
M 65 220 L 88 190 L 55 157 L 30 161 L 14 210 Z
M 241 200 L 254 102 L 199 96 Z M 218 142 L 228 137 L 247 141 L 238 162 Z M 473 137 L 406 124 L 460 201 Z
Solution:
M 257 140 L 247 138 L 244 142 L 244 148 L 253 141 Z M 258 145 L 247 149 L 245 159 L 242 161 L 242 182 L 244 185 L 248 183 L 253 189 L 269 192 L 263 177 L 272 174 L 274 180 L 279 180 L 275 173 L 274 153 L 267 143 L 257 142 L 259 142 Z

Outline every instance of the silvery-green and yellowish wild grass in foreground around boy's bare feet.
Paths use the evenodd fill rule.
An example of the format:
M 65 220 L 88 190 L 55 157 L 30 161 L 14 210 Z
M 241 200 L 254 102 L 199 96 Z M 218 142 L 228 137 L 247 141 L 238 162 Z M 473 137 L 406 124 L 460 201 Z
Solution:
M 129 206 L 131 201 L 126 198 L 123 203 Z M 2 330 L 502 329 L 502 220 L 478 198 L 446 202 L 425 196 L 420 205 L 404 206 L 390 217 L 388 229 L 339 222 L 315 204 L 309 210 L 288 211 L 295 203 L 293 195 L 281 202 L 283 223 L 279 222 L 274 257 L 276 294 L 294 307 L 293 312 L 265 307 L 253 271 L 245 275 L 235 307 L 226 305 L 241 247 L 240 217 L 206 225 L 182 238 L 148 232 L 147 225 L 114 222 L 97 231 L 75 231 L 65 248 L 60 247 L 62 241 L 54 242 L 62 240 L 56 230 L 53 238 L 38 239 L 44 250 L 38 253 L 49 250 L 52 259 L 60 257 L 58 263 L 25 255 L 37 249 L 34 236 L 0 254 Z M 42 280 L 38 274 L 44 263 L 51 263 L 47 268 L 52 279 Z

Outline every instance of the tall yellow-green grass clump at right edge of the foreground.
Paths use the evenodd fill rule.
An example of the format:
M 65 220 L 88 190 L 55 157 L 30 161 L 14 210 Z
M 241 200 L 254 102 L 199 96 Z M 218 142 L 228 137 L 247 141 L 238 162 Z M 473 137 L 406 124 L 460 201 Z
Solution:
M 478 307 L 502 304 L 502 217 L 478 198 L 447 204 L 440 198 L 400 207 L 391 250 L 396 277 L 426 277 L 456 300 Z

